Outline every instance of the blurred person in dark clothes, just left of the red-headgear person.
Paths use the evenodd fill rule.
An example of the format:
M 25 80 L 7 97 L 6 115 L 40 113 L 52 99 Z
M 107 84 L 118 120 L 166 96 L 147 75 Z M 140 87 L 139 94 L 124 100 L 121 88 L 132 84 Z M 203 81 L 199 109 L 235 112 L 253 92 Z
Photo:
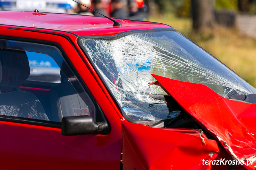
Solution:
M 113 11 L 111 12 L 111 17 L 115 18 L 127 18 L 129 17 L 128 12 L 123 9 L 123 3 L 121 0 L 112 0 L 111 2 Z

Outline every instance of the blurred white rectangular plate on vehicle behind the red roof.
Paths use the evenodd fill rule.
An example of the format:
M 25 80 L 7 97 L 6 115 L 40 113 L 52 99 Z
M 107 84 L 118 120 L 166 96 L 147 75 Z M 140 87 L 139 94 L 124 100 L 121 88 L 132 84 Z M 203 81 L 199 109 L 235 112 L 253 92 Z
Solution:
M 18 9 L 45 9 L 46 2 L 41 0 L 17 0 Z

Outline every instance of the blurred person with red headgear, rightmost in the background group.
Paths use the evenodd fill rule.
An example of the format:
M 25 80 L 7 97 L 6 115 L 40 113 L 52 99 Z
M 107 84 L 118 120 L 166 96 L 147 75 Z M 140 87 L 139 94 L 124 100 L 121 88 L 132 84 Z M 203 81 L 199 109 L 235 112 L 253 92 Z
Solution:
M 129 7 L 129 19 L 132 20 L 148 20 L 148 14 L 145 9 L 144 1 L 143 0 L 129 0 L 128 1 Z

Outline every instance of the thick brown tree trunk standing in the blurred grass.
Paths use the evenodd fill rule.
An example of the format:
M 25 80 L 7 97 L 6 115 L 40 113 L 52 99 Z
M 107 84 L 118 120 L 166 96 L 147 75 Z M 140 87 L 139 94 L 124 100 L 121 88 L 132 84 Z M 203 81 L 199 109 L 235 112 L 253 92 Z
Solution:
M 215 27 L 211 0 L 191 0 L 193 31 L 206 31 Z

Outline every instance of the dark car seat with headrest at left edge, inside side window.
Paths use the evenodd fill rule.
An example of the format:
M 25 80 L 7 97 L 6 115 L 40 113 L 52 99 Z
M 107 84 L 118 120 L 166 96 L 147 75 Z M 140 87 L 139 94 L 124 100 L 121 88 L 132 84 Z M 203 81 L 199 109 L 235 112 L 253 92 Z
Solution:
M 0 49 L 0 114 L 49 120 L 38 98 L 20 90 L 29 74 L 25 51 Z

